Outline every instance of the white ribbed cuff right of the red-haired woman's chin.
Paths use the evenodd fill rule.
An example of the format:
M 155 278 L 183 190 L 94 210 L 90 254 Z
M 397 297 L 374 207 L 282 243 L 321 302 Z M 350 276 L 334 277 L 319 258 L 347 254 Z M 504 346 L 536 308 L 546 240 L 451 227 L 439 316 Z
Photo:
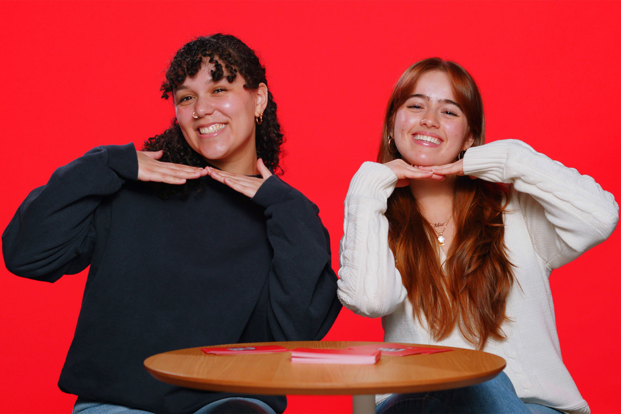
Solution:
M 494 183 L 507 183 L 504 171 L 509 148 L 514 141 L 515 139 L 502 139 L 469 148 L 464 155 L 464 174 Z

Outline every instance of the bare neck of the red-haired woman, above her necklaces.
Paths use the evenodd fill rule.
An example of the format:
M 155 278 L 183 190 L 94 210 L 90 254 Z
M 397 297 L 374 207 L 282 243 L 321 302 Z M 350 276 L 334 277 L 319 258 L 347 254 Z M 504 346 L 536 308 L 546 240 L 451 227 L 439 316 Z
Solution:
M 429 222 L 442 222 L 453 211 L 455 175 L 443 181 L 410 180 L 410 192 Z

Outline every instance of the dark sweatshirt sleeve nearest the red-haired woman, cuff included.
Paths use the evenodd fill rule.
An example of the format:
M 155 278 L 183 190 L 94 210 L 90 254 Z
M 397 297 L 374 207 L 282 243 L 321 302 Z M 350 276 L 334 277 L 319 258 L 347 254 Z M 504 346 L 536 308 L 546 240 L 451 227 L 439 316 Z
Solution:
M 252 198 L 265 207 L 274 258 L 268 275 L 268 324 L 276 341 L 320 340 L 338 316 L 330 236 L 319 208 L 276 175 Z

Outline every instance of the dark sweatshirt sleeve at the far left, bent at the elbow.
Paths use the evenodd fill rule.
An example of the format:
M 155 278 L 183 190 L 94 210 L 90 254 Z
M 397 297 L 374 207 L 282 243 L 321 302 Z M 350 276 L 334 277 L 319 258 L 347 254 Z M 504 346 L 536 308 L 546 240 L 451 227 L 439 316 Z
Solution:
M 35 188 L 2 234 L 9 271 L 57 281 L 89 265 L 96 237 L 93 216 L 103 196 L 137 179 L 134 144 L 101 146 L 58 168 Z

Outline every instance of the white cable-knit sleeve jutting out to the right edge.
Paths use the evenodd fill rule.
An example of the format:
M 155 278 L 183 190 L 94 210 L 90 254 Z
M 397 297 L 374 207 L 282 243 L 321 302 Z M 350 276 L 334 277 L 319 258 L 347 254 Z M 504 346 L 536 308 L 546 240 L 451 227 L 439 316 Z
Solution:
M 535 251 L 550 269 L 604 241 L 619 221 L 614 196 L 593 178 L 517 139 L 468 149 L 463 169 L 467 175 L 513 185 Z

